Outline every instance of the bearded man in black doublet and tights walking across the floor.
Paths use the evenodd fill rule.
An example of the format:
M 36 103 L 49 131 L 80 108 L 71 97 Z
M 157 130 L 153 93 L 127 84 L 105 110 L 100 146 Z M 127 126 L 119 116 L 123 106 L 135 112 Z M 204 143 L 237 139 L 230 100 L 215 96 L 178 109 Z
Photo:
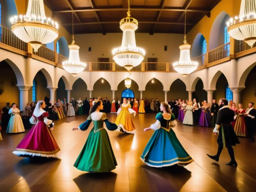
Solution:
M 237 162 L 235 160 L 234 156 L 234 150 L 232 146 L 235 146 L 236 144 L 239 144 L 239 140 L 236 136 L 236 133 L 231 125 L 231 122 L 234 121 L 234 111 L 229 109 L 228 106 L 228 100 L 227 99 L 220 99 L 219 100 L 219 105 L 223 105 L 219 109 L 218 112 L 218 117 L 216 124 L 218 125 L 218 138 L 217 138 L 217 143 L 219 145 L 218 147 L 218 152 L 216 155 L 208 155 L 211 159 L 214 159 L 215 161 L 219 161 L 220 153 L 223 149 L 223 147 L 228 148 L 228 153 L 231 158 L 231 161 L 229 163 L 226 163 L 226 165 L 232 165 L 232 166 L 237 166 Z

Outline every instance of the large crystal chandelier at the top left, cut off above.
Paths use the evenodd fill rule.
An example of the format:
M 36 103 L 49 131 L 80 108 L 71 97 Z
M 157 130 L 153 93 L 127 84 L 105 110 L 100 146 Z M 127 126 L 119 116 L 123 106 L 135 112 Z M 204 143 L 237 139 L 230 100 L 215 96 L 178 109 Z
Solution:
M 27 14 L 11 17 L 10 22 L 13 33 L 22 41 L 30 43 L 34 52 L 59 35 L 58 23 L 45 16 L 43 0 L 29 0 Z

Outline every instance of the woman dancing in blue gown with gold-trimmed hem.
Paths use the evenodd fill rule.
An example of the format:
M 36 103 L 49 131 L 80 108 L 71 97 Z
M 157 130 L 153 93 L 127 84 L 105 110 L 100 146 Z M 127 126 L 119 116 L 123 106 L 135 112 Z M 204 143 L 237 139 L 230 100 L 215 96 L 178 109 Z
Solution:
M 151 167 L 166 167 L 178 164 L 185 166 L 194 160 L 188 155 L 183 146 L 180 144 L 171 126 L 175 115 L 170 113 L 170 108 L 165 102 L 161 103 L 160 110 L 163 113 L 157 113 L 156 122 L 147 130 L 155 130 L 145 147 L 141 160 Z

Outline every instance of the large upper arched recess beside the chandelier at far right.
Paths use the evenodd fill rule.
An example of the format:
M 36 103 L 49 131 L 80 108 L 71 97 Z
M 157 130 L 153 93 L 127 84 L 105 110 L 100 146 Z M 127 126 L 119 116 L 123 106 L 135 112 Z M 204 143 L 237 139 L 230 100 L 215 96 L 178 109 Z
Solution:
M 224 27 L 230 16 L 222 11 L 215 18 L 210 31 L 208 51 L 215 49 L 224 44 Z

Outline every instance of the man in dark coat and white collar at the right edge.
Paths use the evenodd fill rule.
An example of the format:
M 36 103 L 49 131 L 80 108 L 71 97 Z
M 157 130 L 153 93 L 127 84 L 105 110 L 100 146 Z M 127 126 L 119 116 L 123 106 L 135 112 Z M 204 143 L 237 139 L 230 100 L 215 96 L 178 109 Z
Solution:
M 247 133 L 250 139 L 250 142 L 254 142 L 254 129 L 256 126 L 255 116 L 256 116 L 256 110 L 253 108 L 254 103 L 251 102 L 248 104 L 249 108 L 246 109 L 244 113 L 244 121 L 246 123 L 247 127 Z

